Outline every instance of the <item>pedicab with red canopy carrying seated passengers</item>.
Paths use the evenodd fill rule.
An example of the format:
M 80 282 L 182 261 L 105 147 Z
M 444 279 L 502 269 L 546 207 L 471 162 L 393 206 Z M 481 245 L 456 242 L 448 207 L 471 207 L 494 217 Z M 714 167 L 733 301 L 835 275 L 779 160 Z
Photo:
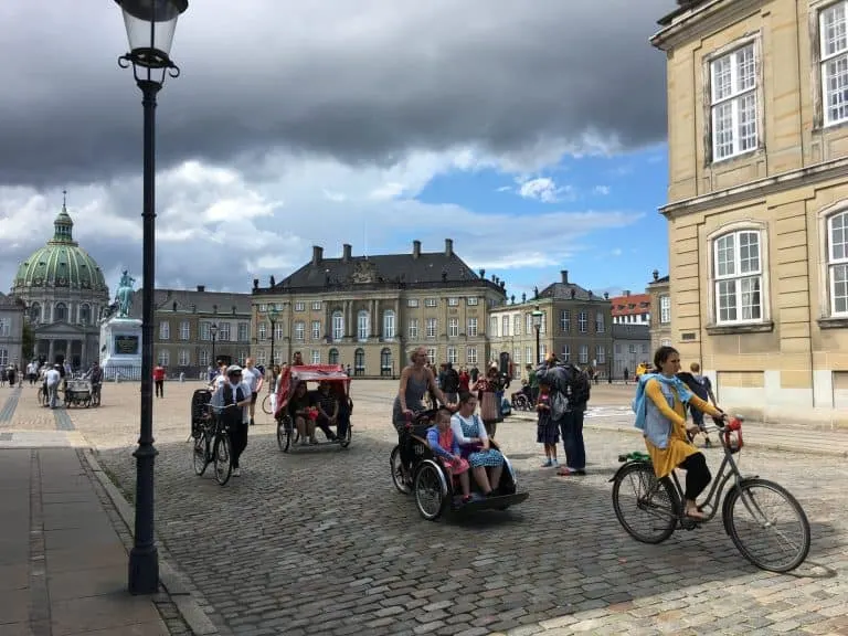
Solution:
M 289 402 L 298 384 L 306 383 L 309 409 L 305 415 L 304 425 L 311 428 L 317 426 L 326 439 L 316 436 L 308 439 L 306 431 L 298 430 L 295 417 L 289 411 Z M 320 399 L 319 388 L 326 384 L 329 392 L 339 402 L 339 415 L 336 422 L 320 421 L 317 403 Z M 350 377 L 339 364 L 304 364 L 286 367 L 279 381 L 276 395 L 274 418 L 277 421 L 277 446 L 283 453 L 295 448 L 338 445 L 340 448 L 350 446 L 352 424 L 350 415 L 353 402 L 350 400 Z M 301 425 L 303 428 L 303 425 Z M 333 432 L 332 428 L 336 431 Z

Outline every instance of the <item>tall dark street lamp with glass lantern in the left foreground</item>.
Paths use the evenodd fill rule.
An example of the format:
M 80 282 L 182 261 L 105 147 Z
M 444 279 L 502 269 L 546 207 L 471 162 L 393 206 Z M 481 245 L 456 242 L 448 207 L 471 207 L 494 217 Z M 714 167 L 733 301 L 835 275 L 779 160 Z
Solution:
M 153 536 L 153 280 L 156 278 L 156 94 L 166 73 L 180 70 L 169 53 L 173 30 L 188 0 L 115 0 L 124 13 L 129 53 L 118 59 L 121 68 L 132 65 L 145 112 L 144 210 L 141 272 L 141 413 L 136 458 L 136 528 L 129 553 L 129 593 L 159 590 L 159 553 Z

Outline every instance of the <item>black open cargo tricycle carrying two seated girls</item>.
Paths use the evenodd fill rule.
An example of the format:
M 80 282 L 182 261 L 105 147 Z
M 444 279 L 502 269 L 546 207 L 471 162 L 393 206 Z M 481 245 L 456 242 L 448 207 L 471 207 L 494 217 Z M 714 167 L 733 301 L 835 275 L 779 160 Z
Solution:
M 490 439 L 492 448 L 504 456 L 504 470 L 500 483 L 492 484 L 492 491 L 485 496 L 471 478 L 471 499 L 463 501 L 458 480 L 452 477 L 441 457 L 430 447 L 426 430 L 432 425 L 436 410 L 423 411 L 412 417 L 402 433 L 401 444 L 411 445 L 412 464 L 404 470 L 401 462 L 401 444 L 394 447 L 389 458 L 392 469 L 392 481 L 403 495 L 413 494 L 418 513 L 427 521 L 435 521 L 445 512 L 507 510 L 527 500 L 529 492 L 519 492 L 518 477 L 509 458 L 504 454 L 495 439 Z

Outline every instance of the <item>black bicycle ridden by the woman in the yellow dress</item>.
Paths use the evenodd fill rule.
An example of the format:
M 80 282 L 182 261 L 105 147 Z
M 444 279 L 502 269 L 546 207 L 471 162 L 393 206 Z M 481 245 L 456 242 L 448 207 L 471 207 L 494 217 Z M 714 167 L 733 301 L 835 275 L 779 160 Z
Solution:
M 783 486 L 768 479 L 761 479 L 759 475 L 742 475 L 734 459 L 734 455 L 743 446 L 742 422 L 742 417 L 731 417 L 727 425 L 721 426 L 717 422 L 714 426 L 704 428 L 719 434 L 724 457 L 706 500 L 698 506 L 698 509 L 704 512 L 703 519 L 696 520 L 686 516 L 683 489 L 677 471 L 672 471 L 669 477 L 657 479 L 648 456 L 630 454 L 619 457 L 618 460 L 623 462 L 623 466 L 610 481 L 613 483 L 615 516 L 627 533 L 643 543 L 657 544 L 671 537 L 675 530 L 695 530 L 716 517 L 724 488 L 732 478 L 733 485 L 721 504 L 721 517 L 724 531 L 730 534 L 736 549 L 751 563 L 767 572 L 785 573 L 801 565 L 807 558 L 810 547 L 809 520 L 797 499 Z M 622 485 L 626 479 L 633 483 L 635 501 L 628 500 L 627 495 L 622 494 Z M 762 496 L 755 497 L 754 490 L 775 495 L 778 500 L 788 505 L 787 508 L 793 518 L 781 523 L 774 515 L 766 515 L 763 511 Z M 625 510 L 632 509 L 646 513 L 647 530 L 638 530 L 625 516 Z M 750 515 L 750 519 L 742 519 L 745 512 Z M 788 538 L 793 528 L 798 533 L 794 542 Z M 743 538 L 746 530 L 751 530 L 750 539 Z M 760 543 L 768 543 L 770 531 L 776 545 L 766 545 L 763 553 L 759 554 Z M 757 539 L 762 541 L 757 543 Z M 775 553 L 782 547 L 789 549 L 786 559 L 770 562 L 768 559 L 776 558 Z

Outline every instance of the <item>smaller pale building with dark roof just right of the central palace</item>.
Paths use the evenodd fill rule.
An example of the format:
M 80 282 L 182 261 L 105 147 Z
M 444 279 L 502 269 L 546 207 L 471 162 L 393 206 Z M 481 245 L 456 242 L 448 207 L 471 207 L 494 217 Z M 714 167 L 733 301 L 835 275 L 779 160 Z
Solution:
M 533 294 L 521 303 L 515 297 L 508 305 L 496 306 L 489 317 L 491 360 L 511 361 L 513 373 L 526 375 L 527 364 L 536 364 L 536 328 L 532 314 L 542 312 L 539 330 L 539 358 L 553 351 L 580 367 L 597 369 L 602 378 L 612 369 L 612 306 L 600 296 L 569 280 L 568 271 L 559 283 Z

